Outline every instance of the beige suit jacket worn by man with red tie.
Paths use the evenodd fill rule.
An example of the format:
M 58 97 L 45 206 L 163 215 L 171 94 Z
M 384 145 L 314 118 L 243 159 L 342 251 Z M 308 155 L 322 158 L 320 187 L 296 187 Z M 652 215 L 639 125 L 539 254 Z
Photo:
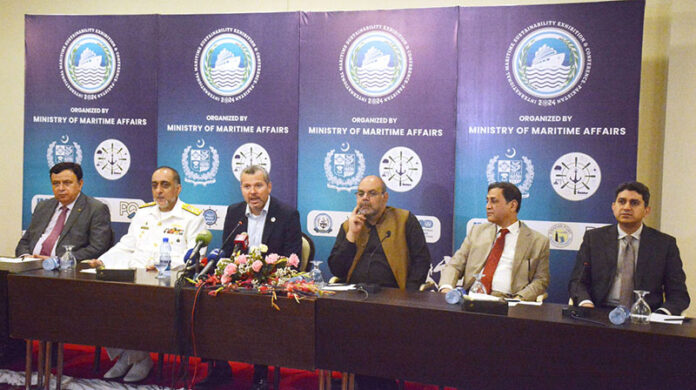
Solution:
M 454 253 L 440 276 L 440 285 L 454 286 L 464 277 L 469 289 L 477 273 L 486 265 L 495 241 L 496 225 L 475 225 L 462 246 Z M 535 300 L 549 285 L 549 239 L 520 221 L 520 233 L 515 246 L 510 291 L 525 300 Z

